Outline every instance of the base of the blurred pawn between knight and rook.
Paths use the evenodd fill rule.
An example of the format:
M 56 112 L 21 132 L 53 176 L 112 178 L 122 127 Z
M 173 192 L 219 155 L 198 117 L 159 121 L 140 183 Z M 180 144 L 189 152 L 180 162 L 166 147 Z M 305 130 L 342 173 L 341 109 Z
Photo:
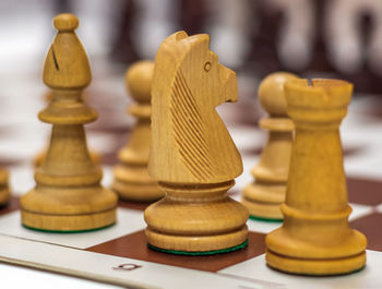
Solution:
M 253 217 L 282 220 L 283 214 L 279 206 L 285 200 L 286 186 L 284 184 L 258 184 L 250 183 L 243 189 L 241 203 Z

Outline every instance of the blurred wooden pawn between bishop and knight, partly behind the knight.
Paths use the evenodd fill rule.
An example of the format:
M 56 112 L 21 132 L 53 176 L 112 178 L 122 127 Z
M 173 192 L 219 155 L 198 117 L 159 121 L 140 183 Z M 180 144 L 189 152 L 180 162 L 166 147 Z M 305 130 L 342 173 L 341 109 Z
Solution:
M 118 153 L 119 164 L 115 167 L 112 189 L 122 200 L 157 201 L 164 192 L 148 174 L 148 152 L 151 144 L 151 88 L 154 62 L 140 61 L 130 67 L 126 84 L 138 104 L 130 106 L 129 112 L 138 118 L 129 142 Z

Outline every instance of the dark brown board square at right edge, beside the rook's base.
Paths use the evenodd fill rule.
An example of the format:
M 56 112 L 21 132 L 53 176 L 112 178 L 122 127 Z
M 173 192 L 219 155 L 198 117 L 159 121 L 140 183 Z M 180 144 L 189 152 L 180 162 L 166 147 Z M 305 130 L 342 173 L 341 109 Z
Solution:
M 380 230 L 380 224 L 382 224 L 382 214 L 372 213 L 350 221 L 350 227 L 365 233 L 368 239 L 368 249 L 382 251 L 382 232 Z

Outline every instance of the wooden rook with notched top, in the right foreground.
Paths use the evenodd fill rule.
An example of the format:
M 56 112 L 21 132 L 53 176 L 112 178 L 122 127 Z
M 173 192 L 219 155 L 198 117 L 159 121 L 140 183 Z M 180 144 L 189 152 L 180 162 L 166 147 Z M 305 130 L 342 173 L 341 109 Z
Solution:
M 366 238 L 348 225 L 339 124 L 353 86 L 338 80 L 285 84 L 287 111 L 296 125 L 282 205 L 284 225 L 266 237 L 266 262 L 279 270 L 336 275 L 366 263 Z

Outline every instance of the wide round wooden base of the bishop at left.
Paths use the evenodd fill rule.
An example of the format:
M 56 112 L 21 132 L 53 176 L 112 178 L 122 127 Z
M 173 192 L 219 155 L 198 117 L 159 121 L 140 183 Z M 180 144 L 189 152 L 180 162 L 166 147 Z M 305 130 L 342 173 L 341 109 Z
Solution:
M 22 224 L 49 231 L 84 231 L 117 219 L 117 195 L 103 188 L 36 188 L 21 197 Z

